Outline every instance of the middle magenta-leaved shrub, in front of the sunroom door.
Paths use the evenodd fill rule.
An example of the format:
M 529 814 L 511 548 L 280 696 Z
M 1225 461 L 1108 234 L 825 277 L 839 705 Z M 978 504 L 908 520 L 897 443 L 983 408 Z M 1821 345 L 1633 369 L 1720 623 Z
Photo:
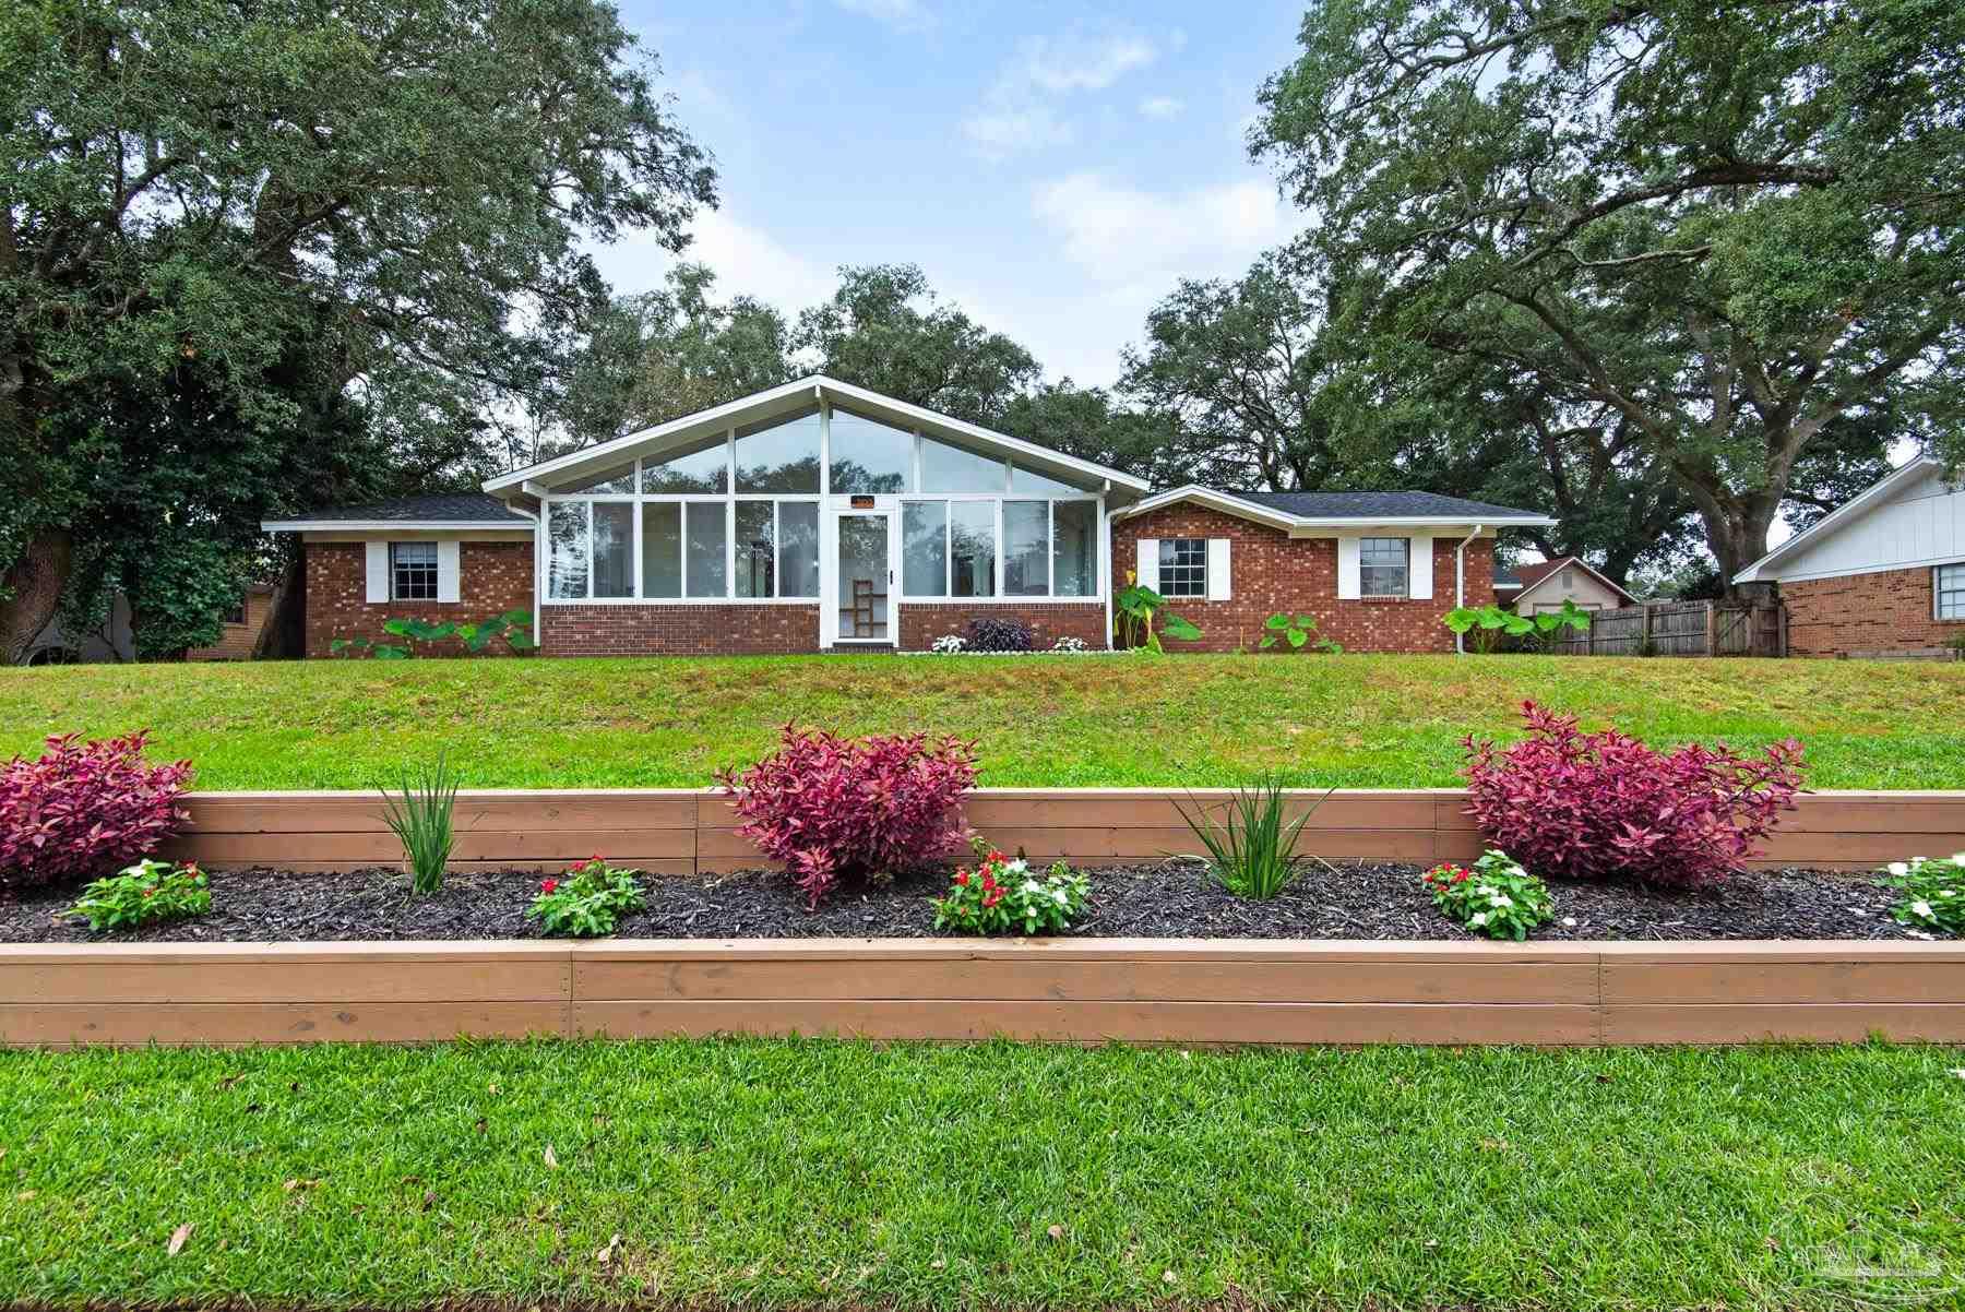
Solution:
M 894 874 L 963 847 L 973 742 L 841 738 L 792 725 L 778 738 L 776 752 L 717 780 L 737 797 L 737 833 L 790 866 L 812 905 L 841 878 Z

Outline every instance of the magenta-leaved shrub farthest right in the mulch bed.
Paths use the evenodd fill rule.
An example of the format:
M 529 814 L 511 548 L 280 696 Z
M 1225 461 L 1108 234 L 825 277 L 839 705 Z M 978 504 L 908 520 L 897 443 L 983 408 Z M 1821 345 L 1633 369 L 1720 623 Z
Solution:
M 1712 884 L 1741 870 L 1802 786 L 1792 738 L 1765 756 L 1655 752 L 1615 729 L 1580 733 L 1574 715 L 1533 701 L 1521 717 L 1529 737 L 1505 750 L 1468 737 L 1462 774 L 1488 843 L 1544 878 Z

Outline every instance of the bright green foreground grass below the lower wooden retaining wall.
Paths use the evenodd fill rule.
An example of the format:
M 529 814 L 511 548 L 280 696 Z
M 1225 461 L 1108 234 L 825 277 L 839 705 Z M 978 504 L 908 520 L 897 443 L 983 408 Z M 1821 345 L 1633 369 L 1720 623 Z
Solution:
M 1886 1047 L 4 1053 L 0 1302 L 1957 1306 L 1961 1065 Z

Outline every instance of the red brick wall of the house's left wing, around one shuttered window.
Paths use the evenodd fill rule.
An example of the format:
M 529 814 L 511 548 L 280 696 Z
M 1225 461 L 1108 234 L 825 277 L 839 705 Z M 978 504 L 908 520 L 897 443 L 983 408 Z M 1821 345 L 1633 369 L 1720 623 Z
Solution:
M 389 640 L 387 619 L 474 623 L 533 609 L 531 542 L 464 542 L 458 550 L 458 601 L 377 601 L 367 597 L 365 542 L 307 544 L 307 654 L 328 656 L 334 638 Z M 464 644 L 434 642 L 430 654 L 462 656 Z M 505 654 L 505 644 L 491 646 Z

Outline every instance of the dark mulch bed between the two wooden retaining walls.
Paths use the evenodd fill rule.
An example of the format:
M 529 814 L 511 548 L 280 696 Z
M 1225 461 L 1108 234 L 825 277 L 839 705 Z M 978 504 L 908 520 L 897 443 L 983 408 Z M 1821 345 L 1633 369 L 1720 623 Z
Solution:
M 1093 870 L 1081 937 L 1142 939 L 1468 939 L 1427 898 L 1419 866 L 1311 864 L 1269 902 L 1230 896 L 1195 862 Z M 65 917 L 73 894 L 0 900 L 0 943 L 269 943 L 332 939 L 533 939 L 525 907 L 538 876 L 456 874 L 442 892 L 411 898 L 399 870 L 291 874 L 216 872 L 212 911 L 136 933 L 90 935 Z M 627 917 L 629 939 L 931 937 L 929 900 L 943 876 L 835 892 L 817 911 L 784 876 L 660 876 L 645 882 L 648 909 Z M 1735 876 L 1713 890 L 1664 894 L 1615 884 L 1550 884 L 1556 921 L 1537 939 L 1904 939 L 1890 890 L 1869 876 L 1778 870 Z

